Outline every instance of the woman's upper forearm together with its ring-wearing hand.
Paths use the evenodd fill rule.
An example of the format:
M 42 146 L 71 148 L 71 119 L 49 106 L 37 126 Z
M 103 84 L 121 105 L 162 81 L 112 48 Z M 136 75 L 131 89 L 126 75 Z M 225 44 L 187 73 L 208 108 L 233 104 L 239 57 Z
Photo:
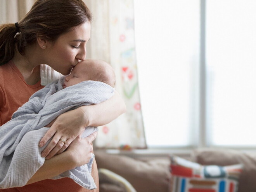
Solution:
M 54 136 L 42 151 L 42 157 L 50 159 L 54 154 L 63 152 L 85 130 L 86 126 L 106 125 L 125 111 L 125 103 L 115 91 L 109 100 L 100 104 L 82 106 L 61 114 L 40 141 L 40 147 L 42 147 Z M 60 139 L 65 140 L 66 143 L 59 141 Z

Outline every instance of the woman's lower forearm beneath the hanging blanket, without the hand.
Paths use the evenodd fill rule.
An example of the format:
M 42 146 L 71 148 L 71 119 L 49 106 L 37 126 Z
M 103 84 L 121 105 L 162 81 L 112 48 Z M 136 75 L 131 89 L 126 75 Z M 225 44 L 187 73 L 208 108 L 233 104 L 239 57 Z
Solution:
M 76 163 L 72 154 L 69 151 L 63 152 L 51 159 L 45 160 L 43 166 L 36 171 L 26 185 L 52 178 L 75 167 Z

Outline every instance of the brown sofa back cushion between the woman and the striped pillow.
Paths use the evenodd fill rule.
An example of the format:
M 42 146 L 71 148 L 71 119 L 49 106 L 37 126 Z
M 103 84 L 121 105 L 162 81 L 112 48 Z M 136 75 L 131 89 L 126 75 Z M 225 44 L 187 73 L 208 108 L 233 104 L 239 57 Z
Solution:
M 127 156 L 95 152 L 98 168 L 125 178 L 137 192 L 167 192 L 170 183 L 170 160 L 137 160 Z

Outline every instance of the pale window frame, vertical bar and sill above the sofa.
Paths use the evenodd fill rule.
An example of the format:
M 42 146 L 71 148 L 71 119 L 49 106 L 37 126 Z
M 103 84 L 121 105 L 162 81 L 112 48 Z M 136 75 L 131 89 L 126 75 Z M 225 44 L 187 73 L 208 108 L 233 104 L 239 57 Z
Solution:
M 199 55 L 199 117 L 198 117 L 198 141 L 195 145 L 185 147 L 177 146 L 149 146 L 148 149 L 121 151 L 118 149 L 106 150 L 111 154 L 125 154 L 129 156 L 163 156 L 166 154 L 188 155 L 197 148 L 235 149 L 242 151 L 256 151 L 254 146 L 222 146 L 211 145 L 209 130 L 207 129 L 207 85 L 206 85 L 206 3 L 200 0 L 200 55 Z

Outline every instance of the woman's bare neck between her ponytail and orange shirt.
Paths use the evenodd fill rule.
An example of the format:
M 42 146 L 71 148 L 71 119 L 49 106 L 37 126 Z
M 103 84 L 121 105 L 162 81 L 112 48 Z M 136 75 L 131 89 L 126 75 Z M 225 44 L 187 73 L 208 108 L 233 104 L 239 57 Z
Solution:
M 15 66 L 21 72 L 24 80 L 28 85 L 35 85 L 40 80 L 40 62 L 33 56 L 33 50 L 26 50 L 26 55 L 21 55 L 17 49 L 12 58 Z

